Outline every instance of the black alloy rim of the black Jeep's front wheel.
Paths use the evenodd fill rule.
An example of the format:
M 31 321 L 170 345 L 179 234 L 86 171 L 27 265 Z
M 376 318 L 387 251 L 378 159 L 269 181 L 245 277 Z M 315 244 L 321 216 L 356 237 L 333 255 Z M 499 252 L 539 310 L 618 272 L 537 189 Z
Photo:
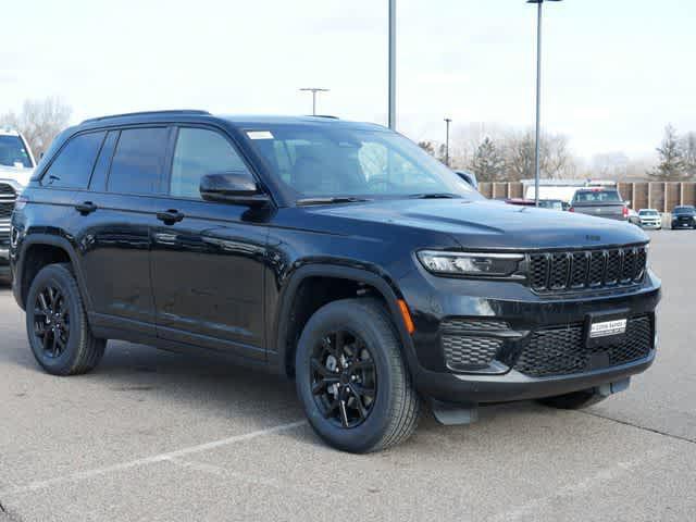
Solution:
M 310 359 L 312 394 L 324 419 L 336 426 L 362 424 L 374 406 L 377 375 L 365 341 L 346 330 L 332 332 Z

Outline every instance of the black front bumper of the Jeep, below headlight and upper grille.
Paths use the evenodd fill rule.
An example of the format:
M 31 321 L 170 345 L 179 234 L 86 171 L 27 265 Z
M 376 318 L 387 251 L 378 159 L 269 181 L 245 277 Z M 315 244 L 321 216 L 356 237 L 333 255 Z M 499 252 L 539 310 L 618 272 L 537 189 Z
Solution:
M 406 295 L 415 322 L 411 373 L 419 391 L 434 399 L 471 405 L 563 395 L 635 375 L 645 371 L 655 359 L 655 309 L 661 290 L 659 279 L 651 273 L 639 287 L 554 298 L 532 295 L 529 288 L 510 282 L 464 282 L 423 273 L 420 275 L 432 285 L 432 291 L 427 296 L 423 296 L 422 291 L 411 297 Z M 415 284 L 418 275 L 412 277 Z M 408 291 L 410 285 L 405 286 Z M 648 318 L 651 331 L 643 355 L 630 361 L 593 362 L 581 370 L 575 368 L 572 372 L 549 375 L 526 372 L 518 364 L 535 335 L 548 330 L 576 328 L 589 315 L 596 314 Z M 502 348 L 493 364 L 481 370 L 463 371 L 448 362 L 444 349 L 444 332 L 447 327 L 444 325 L 449 318 L 500 321 L 508 325 L 509 330 L 504 332 L 475 334 L 476 337 L 502 339 Z M 582 343 L 585 346 L 584 337 Z M 552 343 L 546 346 L 550 357 L 560 351 L 560 348 L 555 350 Z

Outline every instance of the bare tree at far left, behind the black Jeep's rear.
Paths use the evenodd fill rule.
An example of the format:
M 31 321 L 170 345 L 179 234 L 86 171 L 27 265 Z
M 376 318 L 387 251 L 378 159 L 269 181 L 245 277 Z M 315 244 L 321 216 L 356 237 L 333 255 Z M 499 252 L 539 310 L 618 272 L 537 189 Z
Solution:
M 22 112 L 8 112 L 0 116 L 0 124 L 20 130 L 34 154 L 38 158 L 53 141 L 53 138 L 70 123 L 73 109 L 60 98 L 25 100 Z

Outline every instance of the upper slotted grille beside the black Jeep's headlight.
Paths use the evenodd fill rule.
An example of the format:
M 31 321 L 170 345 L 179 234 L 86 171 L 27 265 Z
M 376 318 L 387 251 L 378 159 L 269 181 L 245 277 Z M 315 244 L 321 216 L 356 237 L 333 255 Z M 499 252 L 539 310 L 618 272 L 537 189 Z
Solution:
M 533 253 L 529 279 L 540 294 L 634 285 L 643 281 L 647 247 Z

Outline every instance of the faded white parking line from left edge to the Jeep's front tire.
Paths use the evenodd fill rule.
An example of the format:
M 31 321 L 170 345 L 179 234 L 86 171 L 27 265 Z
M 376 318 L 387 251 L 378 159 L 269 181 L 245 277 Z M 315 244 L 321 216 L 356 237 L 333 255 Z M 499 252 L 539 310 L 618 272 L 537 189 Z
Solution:
M 262 437 L 265 435 L 272 435 L 274 433 L 285 432 L 296 427 L 300 427 L 307 424 L 307 421 L 297 421 L 289 424 L 282 424 L 279 426 L 268 427 L 265 430 L 259 430 L 244 435 L 235 435 L 233 437 L 223 438 L 221 440 L 213 440 L 211 443 L 201 444 L 198 446 L 190 446 L 188 448 L 182 448 L 166 453 L 153 455 L 151 457 L 145 457 L 142 459 L 130 460 L 128 462 L 121 462 L 117 464 L 107 465 L 104 468 L 96 468 L 94 470 L 78 471 L 75 473 L 69 473 L 63 476 L 55 476 L 46 481 L 29 482 L 25 485 L 13 486 L 3 490 L 0 490 L 0 497 L 9 495 L 17 495 L 22 493 L 36 492 L 38 489 L 45 489 L 55 484 L 62 484 L 67 482 L 79 482 L 87 478 L 91 478 L 99 475 L 105 475 L 116 471 L 129 470 L 133 468 L 139 468 L 142 465 L 153 464 L 158 462 L 166 462 L 176 458 L 185 457 L 187 455 L 200 453 L 211 449 L 220 448 L 223 446 L 229 446 L 236 443 L 244 443 L 253 438 Z

